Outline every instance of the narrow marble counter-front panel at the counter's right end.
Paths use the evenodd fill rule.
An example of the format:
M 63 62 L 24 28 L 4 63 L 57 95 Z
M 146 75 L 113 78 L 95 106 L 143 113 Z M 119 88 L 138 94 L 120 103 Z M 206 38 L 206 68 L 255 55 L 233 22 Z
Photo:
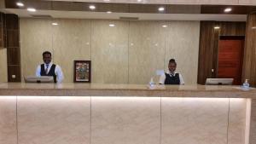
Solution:
M 245 144 L 247 99 L 230 99 L 228 143 Z

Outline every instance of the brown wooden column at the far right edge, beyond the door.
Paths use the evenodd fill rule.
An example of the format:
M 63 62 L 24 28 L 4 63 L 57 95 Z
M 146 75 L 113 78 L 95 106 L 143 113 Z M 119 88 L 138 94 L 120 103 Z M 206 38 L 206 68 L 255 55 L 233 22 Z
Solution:
M 242 80 L 249 79 L 249 83 L 256 86 L 256 14 L 247 16 L 246 46 L 244 51 L 244 65 Z

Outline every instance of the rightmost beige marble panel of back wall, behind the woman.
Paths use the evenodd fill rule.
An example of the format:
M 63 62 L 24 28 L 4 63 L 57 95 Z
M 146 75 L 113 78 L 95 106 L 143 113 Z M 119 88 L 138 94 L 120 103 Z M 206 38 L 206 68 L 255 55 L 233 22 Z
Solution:
M 165 70 L 169 60 L 174 58 L 176 71 L 182 74 L 185 84 L 196 84 L 200 22 L 168 21 L 166 26 Z

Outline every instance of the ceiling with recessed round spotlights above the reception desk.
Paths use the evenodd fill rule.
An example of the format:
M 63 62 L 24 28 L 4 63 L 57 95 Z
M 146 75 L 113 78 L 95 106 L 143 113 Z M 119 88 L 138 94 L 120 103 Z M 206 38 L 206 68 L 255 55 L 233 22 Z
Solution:
M 3 0 L 0 0 L 3 1 Z M 18 14 L 20 17 L 47 17 L 69 19 L 108 19 L 108 20 L 217 20 L 217 21 L 246 21 L 247 14 L 256 10 L 254 6 L 239 5 L 199 5 L 199 4 L 160 4 L 170 3 L 171 0 L 147 0 L 138 3 L 138 0 L 21 0 L 24 7 L 18 7 L 18 0 L 5 0 L 5 6 L 0 7 L 3 13 Z M 20 0 L 19 0 L 20 1 Z M 105 0 L 106 1 L 106 0 Z M 175 0 L 172 0 L 174 2 Z M 180 2 L 184 0 L 178 0 Z M 193 0 L 186 0 L 187 2 Z M 199 2 L 200 0 L 196 0 Z M 206 1 L 206 0 L 204 0 Z M 222 2 L 224 0 L 221 0 Z M 225 0 L 233 1 L 233 0 Z M 236 0 L 237 1 L 237 0 Z M 119 3 L 116 3 L 119 2 Z M 207 1 L 209 2 L 209 1 Z M 213 1 L 212 1 L 213 2 Z M 218 2 L 215 0 L 214 2 Z M 93 4 L 96 9 L 91 10 Z M 26 8 L 37 9 L 28 12 Z M 158 11 L 164 7 L 164 11 Z M 224 9 L 233 10 L 225 14 Z M 112 11 L 107 14 L 107 11 Z

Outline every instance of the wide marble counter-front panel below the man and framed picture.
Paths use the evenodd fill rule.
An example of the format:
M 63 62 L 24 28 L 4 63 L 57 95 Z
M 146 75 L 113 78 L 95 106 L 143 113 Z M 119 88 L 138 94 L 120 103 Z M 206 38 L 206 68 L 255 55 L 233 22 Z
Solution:
M 18 97 L 19 144 L 90 143 L 90 97 Z

